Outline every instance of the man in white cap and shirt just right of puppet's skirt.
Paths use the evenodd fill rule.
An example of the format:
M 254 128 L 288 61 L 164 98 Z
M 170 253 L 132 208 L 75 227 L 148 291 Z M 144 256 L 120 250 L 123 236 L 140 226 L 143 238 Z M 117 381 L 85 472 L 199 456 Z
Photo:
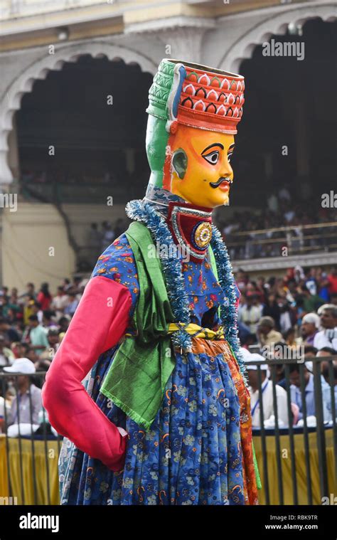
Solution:
M 242 350 L 242 349 L 241 349 Z M 263 361 L 264 357 L 261 354 L 250 354 L 247 351 L 244 354 L 245 361 Z M 261 365 L 261 378 L 262 378 L 262 405 L 264 422 L 270 420 L 272 416 L 275 416 L 274 411 L 274 395 L 272 381 L 269 381 L 267 377 L 267 364 Z M 259 383 L 257 375 L 257 366 L 247 365 L 248 382 L 250 384 L 250 406 L 252 410 L 252 427 L 260 428 L 260 398 L 259 396 Z M 287 412 L 287 392 L 281 386 L 276 385 L 277 396 L 277 418 L 279 427 L 284 428 L 288 425 L 288 412 Z

